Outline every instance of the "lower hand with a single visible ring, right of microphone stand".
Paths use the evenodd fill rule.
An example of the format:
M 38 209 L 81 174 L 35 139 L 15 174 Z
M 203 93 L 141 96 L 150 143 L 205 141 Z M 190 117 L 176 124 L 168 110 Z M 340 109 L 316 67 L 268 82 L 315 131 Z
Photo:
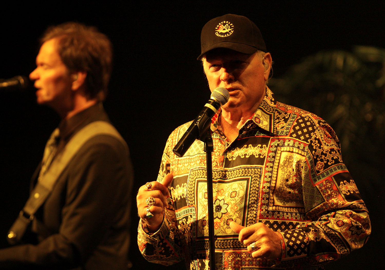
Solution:
M 236 222 L 230 222 L 230 228 L 239 234 L 239 241 L 247 246 L 247 250 L 252 252 L 253 258 L 267 258 L 271 260 L 281 258 L 281 239 L 276 232 L 269 229 L 262 222 L 258 222 L 249 227 L 243 227 Z M 254 251 L 250 247 L 255 243 Z

